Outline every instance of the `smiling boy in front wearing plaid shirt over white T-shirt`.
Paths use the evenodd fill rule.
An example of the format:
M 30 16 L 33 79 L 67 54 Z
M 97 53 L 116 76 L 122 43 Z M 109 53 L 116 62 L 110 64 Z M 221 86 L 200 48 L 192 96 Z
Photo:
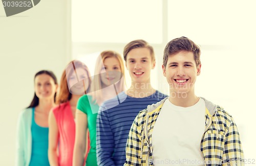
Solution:
M 137 115 L 124 165 L 244 165 L 233 118 L 219 105 L 195 95 L 200 54 L 200 48 L 186 37 L 166 45 L 162 69 L 170 97 Z

